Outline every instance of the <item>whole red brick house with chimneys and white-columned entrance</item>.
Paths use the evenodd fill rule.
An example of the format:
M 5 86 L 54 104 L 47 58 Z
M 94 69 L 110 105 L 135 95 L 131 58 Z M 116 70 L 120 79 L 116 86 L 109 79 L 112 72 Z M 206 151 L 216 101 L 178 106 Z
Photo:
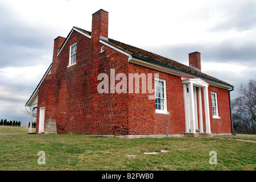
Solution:
M 54 40 L 53 63 L 26 106 L 38 108 L 38 134 L 46 121 L 55 121 L 58 134 L 233 133 L 233 86 L 202 73 L 199 52 L 189 53 L 189 65 L 108 38 L 108 13 L 99 10 L 91 32 L 73 27 L 66 38 Z M 149 86 L 145 92 L 143 81 L 153 93 Z

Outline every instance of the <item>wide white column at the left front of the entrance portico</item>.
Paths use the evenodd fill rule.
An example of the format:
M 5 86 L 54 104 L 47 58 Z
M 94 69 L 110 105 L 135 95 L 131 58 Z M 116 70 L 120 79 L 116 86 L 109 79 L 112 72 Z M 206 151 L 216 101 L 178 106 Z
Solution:
M 190 109 L 190 122 L 191 133 L 195 133 L 195 107 L 194 107 L 194 89 L 193 83 L 189 83 L 189 109 Z

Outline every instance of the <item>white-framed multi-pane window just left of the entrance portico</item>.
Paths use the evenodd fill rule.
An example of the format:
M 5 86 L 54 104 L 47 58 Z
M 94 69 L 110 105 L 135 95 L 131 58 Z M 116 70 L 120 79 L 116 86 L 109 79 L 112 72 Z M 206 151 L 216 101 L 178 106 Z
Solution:
M 169 114 L 166 101 L 166 80 L 155 77 L 155 113 Z

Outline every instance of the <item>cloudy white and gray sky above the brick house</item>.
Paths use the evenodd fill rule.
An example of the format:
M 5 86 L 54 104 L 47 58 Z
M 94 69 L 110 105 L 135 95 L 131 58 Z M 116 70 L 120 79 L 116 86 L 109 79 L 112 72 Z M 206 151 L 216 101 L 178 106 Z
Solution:
M 91 15 L 109 12 L 109 38 L 188 65 L 235 86 L 256 79 L 255 0 L 0 0 L 0 119 L 18 120 L 52 61 L 53 40 L 73 26 L 91 31 Z

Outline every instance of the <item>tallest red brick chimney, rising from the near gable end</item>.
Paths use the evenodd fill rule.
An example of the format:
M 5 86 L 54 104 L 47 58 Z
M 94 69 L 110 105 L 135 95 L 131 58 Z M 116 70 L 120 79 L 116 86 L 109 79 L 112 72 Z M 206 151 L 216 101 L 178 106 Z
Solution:
M 109 13 L 99 10 L 93 14 L 93 24 L 91 26 L 91 38 L 99 39 L 100 36 L 107 38 L 109 29 Z

